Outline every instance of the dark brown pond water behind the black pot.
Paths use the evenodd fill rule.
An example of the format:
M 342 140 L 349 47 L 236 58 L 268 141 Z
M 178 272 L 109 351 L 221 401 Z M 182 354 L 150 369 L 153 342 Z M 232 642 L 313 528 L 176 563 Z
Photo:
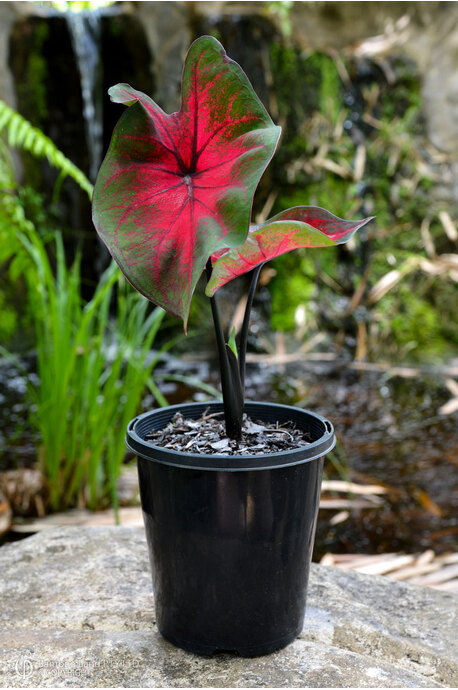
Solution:
M 192 375 L 216 383 L 210 371 L 203 362 L 170 358 L 158 374 Z M 332 518 L 341 511 L 320 510 L 315 560 L 327 551 L 432 548 L 442 553 L 456 548 L 457 415 L 439 414 L 450 393 L 438 372 L 401 370 L 400 376 L 396 370 L 358 370 L 351 362 L 325 360 L 248 365 L 247 399 L 306 407 L 333 422 L 338 443 L 326 461 L 326 478 L 387 489 L 379 505 L 351 509 L 338 524 L 333 525 Z M 11 364 L 0 368 L 0 471 L 30 467 L 35 461 L 33 435 L 24 422 L 26 385 L 19 369 Z M 164 382 L 162 389 L 171 404 L 204 395 L 176 382 Z M 335 497 L 349 498 L 340 493 Z

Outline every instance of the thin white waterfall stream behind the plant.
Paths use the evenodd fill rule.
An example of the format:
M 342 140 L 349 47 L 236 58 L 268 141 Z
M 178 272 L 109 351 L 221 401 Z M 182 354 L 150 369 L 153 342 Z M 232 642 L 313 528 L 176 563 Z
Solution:
M 101 14 L 98 11 L 66 12 L 65 17 L 80 72 L 89 178 L 94 182 L 103 155 Z

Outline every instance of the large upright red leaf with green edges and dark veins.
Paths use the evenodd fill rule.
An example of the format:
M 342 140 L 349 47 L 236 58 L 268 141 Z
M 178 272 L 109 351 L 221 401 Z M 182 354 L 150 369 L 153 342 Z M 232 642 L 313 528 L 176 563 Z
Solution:
M 94 225 L 132 285 L 186 324 L 210 255 L 248 234 L 280 128 L 210 36 L 189 49 L 179 112 L 128 84 L 109 93 L 130 107 L 97 177 Z

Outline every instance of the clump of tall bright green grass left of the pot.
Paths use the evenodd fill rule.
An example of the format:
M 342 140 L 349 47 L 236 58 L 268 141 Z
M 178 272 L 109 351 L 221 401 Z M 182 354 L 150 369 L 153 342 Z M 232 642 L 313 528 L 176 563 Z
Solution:
M 67 268 L 55 237 L 56 277 L 41 239 L 21 234 L 34 315 L 39 384 L 30 389 L 39 459 L 52 510 L 98 508 L 111 498 L 124 460 L 123 436 L 145 387 L 155 395 L 151 353 L 164 312 L 126 286 L 113 263 L 93 298 L 81 297 L 80 261 Z M 110 318 L 115 300 L 116 316 Z

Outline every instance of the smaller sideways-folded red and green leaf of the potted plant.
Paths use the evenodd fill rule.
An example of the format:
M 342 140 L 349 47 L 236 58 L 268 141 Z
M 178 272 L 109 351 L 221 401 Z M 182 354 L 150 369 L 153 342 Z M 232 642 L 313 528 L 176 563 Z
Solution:
M 332 247 L 353 237 L 371 218 L 343 220 L 317 206 L 296 206 L 253 225 L 245 242 L 222 255 L 213 255 L 213 270 L 206 294 L 215 292 L 259 264 L 300 247 Z

